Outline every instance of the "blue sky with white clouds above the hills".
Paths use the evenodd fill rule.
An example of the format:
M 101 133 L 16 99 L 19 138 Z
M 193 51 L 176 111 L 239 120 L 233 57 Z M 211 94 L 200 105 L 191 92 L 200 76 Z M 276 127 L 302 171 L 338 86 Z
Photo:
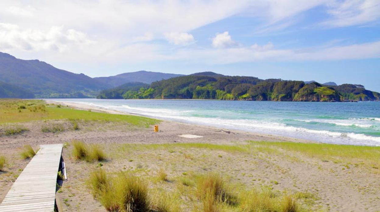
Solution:
M 380 91 L 380 1 L 2 0 L 0 52 L 90 77 L 213 71 Z

